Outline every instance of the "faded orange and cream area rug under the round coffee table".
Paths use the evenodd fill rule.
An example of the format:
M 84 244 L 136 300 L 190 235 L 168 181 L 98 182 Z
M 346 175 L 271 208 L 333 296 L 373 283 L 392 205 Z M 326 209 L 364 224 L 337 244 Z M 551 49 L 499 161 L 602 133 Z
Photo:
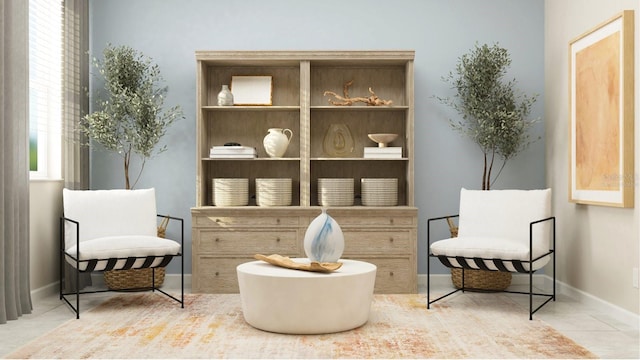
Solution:
M 237 294 L 185 297 L 181 309 L 159 294 L 116 295 L 8 357 L 595 358 L 496 294 L 465 294 L 430 310 L 423 294 L 376 294 L 365 325 L 326 335 L 257 330 L 244 321 Z

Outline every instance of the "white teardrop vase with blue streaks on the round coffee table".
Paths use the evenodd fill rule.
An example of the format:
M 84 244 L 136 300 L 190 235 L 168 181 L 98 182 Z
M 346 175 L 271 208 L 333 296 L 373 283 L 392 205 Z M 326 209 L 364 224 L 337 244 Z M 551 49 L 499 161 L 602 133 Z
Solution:
M 311 261 L 337 262 L 343 251 L 342 229 L 323 208 L 304 234 L 304 252 Z

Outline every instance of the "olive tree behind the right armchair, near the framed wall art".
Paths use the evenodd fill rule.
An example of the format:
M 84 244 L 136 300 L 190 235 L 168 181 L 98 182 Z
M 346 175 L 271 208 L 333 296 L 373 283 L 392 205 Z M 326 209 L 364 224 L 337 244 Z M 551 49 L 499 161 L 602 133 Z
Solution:
M 537 95 L 517 91 L 516 81 L 504 80 L 511 65 L 506 49 L 494 44 L 475 45 L 458 59 L 455 72 L 443 77 L 455 89 L 453 97 L 436 97 L 456 110 L 461 119 L 450 120 L 454 130 L 467 135 L 483 153 L 482 189 L 490 190 L 507 161 L 531 142 L 528 119 Z M 501 160 L 494 173 L 496 160 Z

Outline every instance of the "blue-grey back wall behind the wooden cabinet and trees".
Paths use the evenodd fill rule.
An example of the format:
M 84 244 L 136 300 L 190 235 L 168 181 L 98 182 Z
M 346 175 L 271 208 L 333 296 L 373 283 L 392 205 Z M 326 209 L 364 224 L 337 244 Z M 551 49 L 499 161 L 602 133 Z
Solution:
M 448 119 L 456 114 L 433 99 L 451 94 L 441 77 L 476 42 L 497 42 L 509 50 L 509 77 L 524 92 L 540 94 L 532 116 L 541 118 L 543 0 L 91 1 L 92 55 L 100 56 L 111 43 L 150 56 L 169 86 L 167 106 L 184 109 L 186 120 L 175 123 L 163 138 L 168 151 L 147 161 L 136 188 L 155 187 L 159 211 L 185 218 L 187 273 L 189 209 L 195 204 L 196 50 L 415 50 L 418 272 L 426 273 L 425 219 L 457 212 L 460 187 L 479 188 L 481 182 L 482 153 L 451 130 Z M 544 136 L 543 121 L 533 135 Z M 122 159 L 92 152 L 91 188 L 123 186 Z M 494 188 L 544 186 L 542 139 L 507 165 Z M 177 264 L 168 268 L 177 270 Z

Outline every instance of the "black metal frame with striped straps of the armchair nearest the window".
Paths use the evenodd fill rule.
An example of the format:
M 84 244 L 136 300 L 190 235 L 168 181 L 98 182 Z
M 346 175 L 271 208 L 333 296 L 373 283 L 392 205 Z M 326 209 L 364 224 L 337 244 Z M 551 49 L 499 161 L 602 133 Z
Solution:
M 183 252 L 184 252 L 184 219 L 182 218 L 177 218 L 177 217 L 173 217 L 173 216 L 169 216 L 169 215 L 161 215 L 161 214 L 157 214 L 158 217 L 162 217 L 162 218 L 168 218 L 171 220 L 177 220 L 180 221 L 180 252 L 176 255 L 169 255 L 169 256 L 165 256 L 164 259 L 162 260 L 162 262 L 160 264 L 158 264 L 157 266 L 151 267 L 151 264 L 153 263 L 153 260 L 156 258 L 155 256 L 152 257 L 127 257 L 127 258 L 109 258 L 109 259 L 88 259 L 88 260 L 80 260 L 77 256 L 71 255 L 69 253 L 66 252 L 65 250 L 65 224 L 66 222 L 70 222 L 72 224 L 75 225 L 76 227 L 76 249 L 77 249 L 77 254 L 80 254 L 80 223 L 78 221 L 75 221 L 73 219 L 67 218 L 67 217 L 60 217 L 60 300 L 64 300 L 70 307 L 71 309 L 76 313 L 76 319 L 80 318 L 80 295 L 81 294 L 95 294 L 95 293 L 103 293 L 103 292 L 110 292 L 110 291 L 151 291 L 151 292 L 155 292 L 156 290 L 158 292 L 161 292 L 162 294 L 168 296 L 169 298 L 177 301 L 178 303 L 180 303 L 181 308 L 184 309 L 184 256 L 183 256 Z M 76 277 L 76 286 L 75 286 L 75 291 L 73 292 L 65 292 L 64 288 L 63 288 L 63 281 L 64 281 L 64 264 L 67 261 L 66 257 L 72 258 L 73 261 L 75 261 L 75 277 Z M 155 281 L 155 269 L 156 267 L 164 267 L 166 266 L 174 257 L 179 257 L 180 258 L 180 299 L 178 299 L 177 297 L 165 292 L 164 290 L 160 289 L 159 287 L 156 286 L 156 281 Z M 80 273 L 81 272 L 92 272 L 90 265 L 87 267 L 87 270 L 79 270 L 80 269 L 80 264 L 81 263 L 97 263 L 98 261 L 108 261 L 107 264 L 107 268 L 105 268 L 104 270 L 100 270 L 100 271 L 105 271 L 105 270 L 112 270 L 113 267 L 115 266 L 115 264 L 117 263 L 118 260 L 126 260 L 127 264 L 131 264 L 133 265 L 133 263 L 138 260 L 138 259 L 146 259 L 145 263 L 142 265 L 142 267 L 140 268 L 150 268 L 151 267 L 151 287 L 143 287 L 143 288 L 130 288 L 130 289 L 118 289 L 118 290 L 111 290 L 111 289 L 98 289 L 98 290 L 91 290 L 91 291 L 81 291 L 80 287 L 78 286 L 78 284 L 80 283 Z M 126 267 L 123 269 L 118 269 L 118 270 L 128 270 L 131 268 L 131 265 L 129 265 L 129 267 Z M 72 304 L 72 302 L 67 299 L 67 296 L 70 295 L 75 295 L 75 305 Z

